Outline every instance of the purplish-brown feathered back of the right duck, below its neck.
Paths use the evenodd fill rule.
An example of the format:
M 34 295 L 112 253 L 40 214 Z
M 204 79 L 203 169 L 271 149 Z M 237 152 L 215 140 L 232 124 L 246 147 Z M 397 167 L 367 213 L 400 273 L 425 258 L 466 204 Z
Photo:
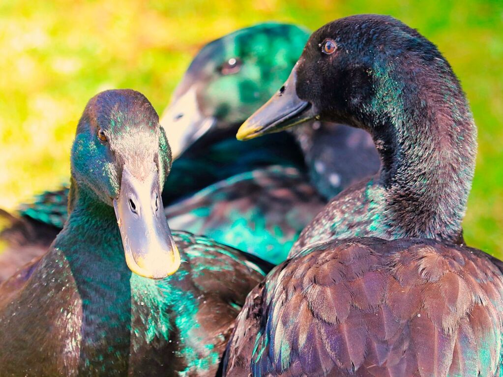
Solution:
M 323 243 L 248 295 L 227 375 L 495 376 L 502 310 L 501 271 L 479 250 L 420 239 Z

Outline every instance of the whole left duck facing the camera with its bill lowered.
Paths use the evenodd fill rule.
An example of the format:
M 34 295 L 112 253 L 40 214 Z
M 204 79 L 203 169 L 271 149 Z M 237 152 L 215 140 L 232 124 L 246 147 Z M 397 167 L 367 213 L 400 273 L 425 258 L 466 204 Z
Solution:
M 89 101 L 71 149 L 68 220 L 0 286 L 2 375 L 215 375 L 246 294 L 271 265 L 171 232 L 161 197 L 171 165 L 141 93 Z

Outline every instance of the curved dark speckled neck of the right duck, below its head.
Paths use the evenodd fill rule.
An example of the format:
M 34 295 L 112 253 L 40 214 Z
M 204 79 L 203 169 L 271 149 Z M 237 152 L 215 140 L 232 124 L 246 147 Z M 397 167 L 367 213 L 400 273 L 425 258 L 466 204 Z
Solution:
M 474 173 L 476 127 L 451 67 L 433 60 L 422 69 L 383 69 L 363 126 L 381 156 L 390 224 L 403 236 L 456 242 Z

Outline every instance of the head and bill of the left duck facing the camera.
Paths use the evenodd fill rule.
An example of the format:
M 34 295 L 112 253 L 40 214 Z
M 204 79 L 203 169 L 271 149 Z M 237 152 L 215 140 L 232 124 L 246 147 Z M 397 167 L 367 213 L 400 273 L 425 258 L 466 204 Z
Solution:
M 164 278 L 180 266 L 161 200 L 171 163 L 164 130 L 141 93 L 107 90 L 89 101 L 72 147 L 72 184 L 114 208 L 127 265 L 145 277 Z

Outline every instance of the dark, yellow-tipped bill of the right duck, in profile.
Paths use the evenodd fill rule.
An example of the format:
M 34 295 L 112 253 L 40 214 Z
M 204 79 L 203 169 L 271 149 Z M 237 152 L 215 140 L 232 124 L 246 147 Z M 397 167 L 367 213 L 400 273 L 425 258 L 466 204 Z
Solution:
M 241 125 L 236 138 L 253 139 L 315 118 L 317 114 L 311 104 L 297 96 L 296 83 L 294 68 L 281 89 Z

